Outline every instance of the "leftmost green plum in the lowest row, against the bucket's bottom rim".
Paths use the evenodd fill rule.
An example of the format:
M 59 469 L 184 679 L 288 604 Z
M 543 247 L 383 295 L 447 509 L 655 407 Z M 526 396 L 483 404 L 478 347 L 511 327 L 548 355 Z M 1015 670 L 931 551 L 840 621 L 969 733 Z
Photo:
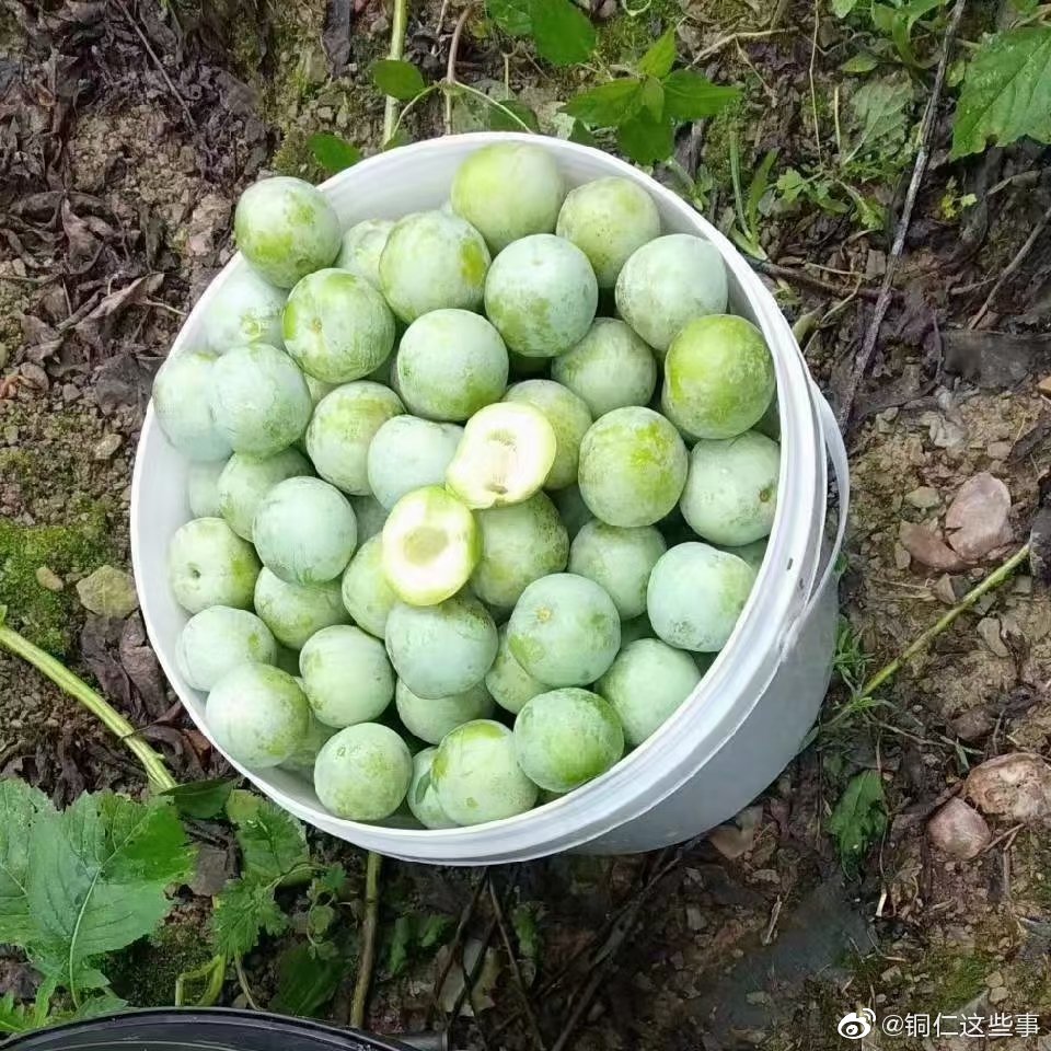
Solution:
M 401 805 L 413 757 L 390 727 L 358 723 L 331 737 L 314 763 L 314 792 L 337 818 L 380 821 Z

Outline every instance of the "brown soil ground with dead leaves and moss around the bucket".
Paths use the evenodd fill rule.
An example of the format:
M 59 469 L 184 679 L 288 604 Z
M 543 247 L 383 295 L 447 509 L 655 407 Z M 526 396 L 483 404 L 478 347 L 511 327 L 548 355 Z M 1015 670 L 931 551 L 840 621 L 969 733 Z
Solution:
M 461 10 L 459 0 L 411 9 L 406 57 L 428 79 L 444 72 Z M 824 4 L 788 0 L 771 12 L 747 0 L 652 0 L 642 11 L 603 3 L 592 14 L 598 60 L 566 72 L 538 65 L 522 42 L 495 37 L 475 11 L 459 76 L 483 88 L 507 84 L 552 130 L 569 94 L 637 58 L 678 22 L 681 60 L 741 83 L 746 102 L 682 128 L 678 174 L 659 165 L 659 177 L 678 188 L 683 174 L 696 180 L 698 205 L 726 229 L 731 138 L 746 192 L 769 149 L 779 151 L 773 178 L 834 168 L 839 92 L 857 89 L 841 67 L 873 42 Z M 349 20 L 349 36 L 340 36 L 340 20 Z M 977 39 L 992 20 L 974 4 L 962 36 Z M 89 614 L 76 585 L 101 565 L 129 570 L 130 470 L 150 380 L 232 251 L 231 201 L 261 172 L 320 177 L 307 146 L 315 131 L 379 147 L 383 102 L 367 70 L 384 54 L 389 28 L 379 0 L 353 10 L 323 0 L 280 9 L 265 0 L 0 5 L 0 604 L 15 627 L 146 727 L 181 777 L 220 767 L 172 706 L 136 614 Z M 937 33 L 917 46 L 936 61 Z M 883 53 L 877 58 L 897 68 Z M 931 82 L 914 73 L 910 128 Z M 405 122 L 413 137 L 441 134 L 441 105 L 431 102 Z M 892 680 L 878 706 L 852 706 L 850 690 L 1025 541 L 1051 466 L 1051 416 L 1038 388 L 1051 371 L 1041 357 L 1051 330 L 1051 235 L 994 288 L 1051 205 L 1051 163 L 1033 143 L 951 163 L 950 113 L 947 99 L 899 291 L 847 434 L 854 495 L 841 600 L 851 627 L 822 728 L 718 835 L 654 856 L 561 857 L 489 873 L 513 912 L 511 935 L 547 1048 L 820 1051 L 851 1046 L 836 1023 L 862 1007 L 932 1018 L 1031 1013 L 1042 1033 L 874 1033 L 865 1042 L 888 1051 L 1051 1048 L 1048 827 L 993 820 L 992 844 L 968 862 L 947 861 L 926 833 L 929 815 L 984 759 L 1051 754 L 1047 590 L 1016 575 Z M 458 128 L 476 119 L 463 107 L 453 116 Z M 911 172 L 904 142 L 882 143 L 876 160 L 838 173 L 867 201 L 864 215 L 783 192 L 763 198 L 769 263 L 760 269 L 834 404 L 850 389 Z M 915 533 L 906 542 L 902 523 L 937 528 L 960 487 L 982 472 L 1007 486 L 1009 535 L 967 564 L 939 568 L 934 534 L 922 534 L 926 547 Z M 140 773 L 89 716 L 3 652 L 0 705 L 4 776 L 39 784 L 57 802 L 84 789 L 141 788 Z M 882 778 L 889 822 L 844 875 L 829 817 L 864 770 Z M 359 877 L 355 852 L 332 841 L 317 847 Z M 458 916 L 481 877 L 388 863 L 381 960 L 400 915 Z M 193 942 L 206 913 L 189 900 L 174 926 Z M 466 928 L 476 947 L 477 939 L 497 945 L 489 916 L 483 898 Z M 135 950 L 159 983 L 177 972 L 164 962 L 177 940 Z M 455 1039 L 535 1048 L 522 986 L 490 951 L 494 1006 L 455 1020 Z M 432 955 L 414 950 L 396 975 L 381 963 L 371 1028 L 428 1024 Z M 247 961 L 257 992 L 269 981 L 267 956 Z M 19 982 L 24 974 L 7 988 L 21 991 Z M 236 982 L 227 990 L 236 1002 Z M 166 986 L 137 988 L 129 998 L 165 996 Z

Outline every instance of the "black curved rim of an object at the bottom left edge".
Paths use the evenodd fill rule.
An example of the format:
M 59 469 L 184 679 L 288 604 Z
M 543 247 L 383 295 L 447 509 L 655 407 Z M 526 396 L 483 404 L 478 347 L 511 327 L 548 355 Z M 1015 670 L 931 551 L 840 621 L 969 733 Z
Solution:
M 132 1010 L 0 1043 L 2 1051 L 411 1051 L 351 1029 L 255 1010 Z

